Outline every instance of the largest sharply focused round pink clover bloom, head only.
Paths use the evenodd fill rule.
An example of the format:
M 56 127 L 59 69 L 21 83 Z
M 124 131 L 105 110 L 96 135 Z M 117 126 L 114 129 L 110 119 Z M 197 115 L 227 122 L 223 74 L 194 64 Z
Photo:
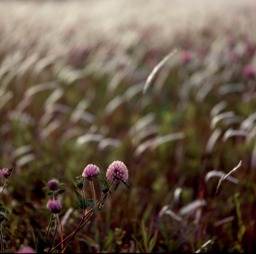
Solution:
M 109 165 L 106 177 L 108 181 L 126 181 L 128 179 L 128 169 L 122 161 L 116 160 Z

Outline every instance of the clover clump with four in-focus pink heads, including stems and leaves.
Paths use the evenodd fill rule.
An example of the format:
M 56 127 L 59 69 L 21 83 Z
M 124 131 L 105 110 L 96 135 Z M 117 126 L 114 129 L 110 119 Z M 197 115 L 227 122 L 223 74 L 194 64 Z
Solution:
M 97 165 L 89 164 L 84 168 L 82 175 L 76 177 L 76 181 L 71 179 L 75 187 L 78 189 L 74 189 L 74 193 L 78 200 L 78 204 L 76 205 L 75 209 L 82 212 L 82 219 L 77 225 L 76 229 L 73 231 L 73 233 L 68 235 L 59 243 L 56 243 L 55 239 L 57 228 L 59 226 L 58 221 L 60 217 L 60 212 L 62 211 L 62 204 L 59 200 L 59 195 L 64 192 L 64 190 L 62 189 L 64 184 L 60 183 L 58 179 L 52 179 L 48 182 L 44 182 L 45 187 L 43 189 L 47 191 L 47 196 L 52 197 L 48 200 L 46 204 L 46 208 L 51 212 L 51 218 L 49 226 L 46 230 L 45 239 L 43 239 L 43 237 L 38 237 L 37 239 L 36 251 L 47 251 L 51 253 L 58 250 L 59 252 L 62 252 L 66 248 L 68 243 L 72 240 L 72 238 L 75 236 L 75 234 L 82 227 L 84 227 L 84 225 L 86 225 L 95 214 L 102 210 L 102 207 L 105 204 L 108 195 L 111 194 L 111 190 L 113 188 L 114 190 L 116 190 L 119 183 L 122 182 L 126 189 L 131 190 L 130 186 L 126 182 L 126 180 L 128 179 L 128 170 L 122 161 L 114 161 L 113 163 L 111 163 L 107 169 L 105 177 L 100 176 L 99 174 L 100 168 Z M 85 199 L 85 179 L 89 181 L 92 189 L 92 198 L 88 200 Z M 97 181 L 99 182 L 101 190 L 101 197 L 99 200 L 97 200 L 95 195 L 96 192 L 93 183 L 95 179 L 97 179 Z M 53 235 L 51 235 L 51 228 L 54 221 L 54 232 Z M 50 240 L 50 238 L 52 240 Z

